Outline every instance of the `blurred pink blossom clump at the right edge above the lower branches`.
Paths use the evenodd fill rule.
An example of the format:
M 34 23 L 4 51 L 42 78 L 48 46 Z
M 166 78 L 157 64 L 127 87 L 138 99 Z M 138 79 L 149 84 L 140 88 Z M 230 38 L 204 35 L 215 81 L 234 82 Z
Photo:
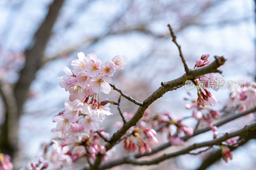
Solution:
M 228 108 L 237 108 L 245 111 L 256 106 L 256 83 L 243 84 L 240 88 L 233 89 L 227 101 Z

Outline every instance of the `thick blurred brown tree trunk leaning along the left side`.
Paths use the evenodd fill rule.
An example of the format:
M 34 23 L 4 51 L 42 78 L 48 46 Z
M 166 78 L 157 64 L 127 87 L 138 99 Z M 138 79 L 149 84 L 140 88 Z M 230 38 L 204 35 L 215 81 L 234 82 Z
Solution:
M 5 122 L 1 128 L 0 150 L 14 158 L 14 169 L 19 168 L 18 128 L 19 119 L 23 114 L 23 105 L 28 98 L 29 86 L 40 69 L 44 49 L 51 36 L 52 27 L 57 19 L 64 0 L 54 0 L 49 6 L 49 12 L 41 26 L 36 31 L 30 45 L 25 51 L 26 63 L 20 71 L 20 78 L 14 88 L 1 85 L 1 95 L 5 104 Z M 8 91 L 9 88 L 9 91 Z M 6 91 L 7 89 L 7 91 Z M 10 90 L 12 89 L 12 90 Z M 13 97 L 13 98 L 12 98 Z M 15 101 L 13 101 L 13 99 Z M 12 103 L 10 103 L 12 101 Z M 14 107 L 16 107 L 14 109 Z

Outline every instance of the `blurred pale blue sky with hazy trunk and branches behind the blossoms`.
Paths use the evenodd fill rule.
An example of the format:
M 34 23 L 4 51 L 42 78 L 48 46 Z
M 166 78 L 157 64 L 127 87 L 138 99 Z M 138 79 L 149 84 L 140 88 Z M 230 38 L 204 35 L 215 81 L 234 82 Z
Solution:
M 56 136 L 51 132 L 56 126 L 52 116 L 63 109 L 68 99 L 68 92 L 59 87 L 57 78 L 66 76 L 61 70 L 63 66 L 72 69 L 70 63 L 78 52 L 94 52 L 102 62 L 125 55 L 128 67 L 115 73 L 113 83 L 140 101 L 162 81 L 180 77 L 184 68 L 167 24 L 174 28 L 190 67 L 205 53 L 211 54 L 210 61 L 214 55 L 223 55 L 227 58 L 222 67 L 224 79 L 254 81 L 253 0 L 1 0 L 1 151 L 12 155 L 16 167 L 24 167 L 31 157 L 41 154 L 41 144 Z M 196 92 L 191 93 L 196 97 Z M 221 109 L 229 91 L 213 94 L 218 100 L 214 108 Z M 112 91 L 101 99 L 118 97 Z M 165 94 L 150 107 L 151 114 L 167 109 L 175 119 L 190 116 L 184 97 L 188 97 L 185 88 Z M 121 106 L 129 113 L 137 109 L 125 99 Z M 121 120 L 115 107 L 112 113 L 102 123 L 110 134 L 115 129 L 109 124 Z M 218 131 L 238 129 L 253 120 L 253 116 L 241 118 Z M 193 126 L 196 122 L 186 123 Z M 211 138 L 212 133 L 208 132 L 188 142 Z M 214 150 L 180 156 L 158 166 L 198 169 Z M 218 160 L 209 163 L 208 169 L 255 169 L 255 152 L 256 140 L 252 139 L 234 151 L 228 164 Z M 115 169 L 121 168 L 138 167 L 125 165 Z

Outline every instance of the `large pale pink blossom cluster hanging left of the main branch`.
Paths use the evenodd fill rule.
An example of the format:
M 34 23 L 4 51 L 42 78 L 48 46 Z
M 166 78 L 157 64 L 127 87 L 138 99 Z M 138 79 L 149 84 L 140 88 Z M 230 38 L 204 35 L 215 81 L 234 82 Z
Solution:
M 53 117 L 57 126 L 52 131 L 57 132 L 58 138 L 52 140 L 52 152 L 47 157 L 55 168 L 71 166 L 80 158 L 90 164 L 98 153 L 105 155 L 103 160 L 107 159 L 102 143 L 109 134 L 100 128 L 99 121 L 112 115 L 108 106 L 114 101 L 100 102 L 99 92 L 110 92 L 111 77 L 116 70 L 124 69 L 126 62 L 125 56 L 117 55 L 112 61 L 101 63 L 94 53 L 85 56 L 80 52 L 71 63 L 74 71 L 63 68 L 67 76 L 60 77 L 60 86 L 70 95 L 64 110 Z

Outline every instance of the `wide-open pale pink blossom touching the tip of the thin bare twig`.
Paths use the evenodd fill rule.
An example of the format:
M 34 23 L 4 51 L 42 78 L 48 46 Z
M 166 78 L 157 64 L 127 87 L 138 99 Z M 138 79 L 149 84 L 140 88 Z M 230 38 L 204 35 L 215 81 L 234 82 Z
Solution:
M 90 79 L 89 85 L 92 88 L 93 92 L 103 92 L 105 94 L 108 94 L 111 91 L 111 87 L 109 83 L 111 83 L 112 80 L 108 76 L 104 75 L 98 75 L 94 78 Z

